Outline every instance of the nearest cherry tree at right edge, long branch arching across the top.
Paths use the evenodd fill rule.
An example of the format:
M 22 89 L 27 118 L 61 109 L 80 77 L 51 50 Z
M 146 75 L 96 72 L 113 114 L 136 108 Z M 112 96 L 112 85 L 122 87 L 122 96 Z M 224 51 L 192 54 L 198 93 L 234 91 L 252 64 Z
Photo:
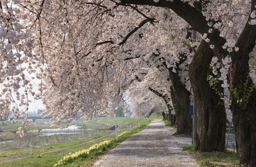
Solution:
M 203 35 L 204 40 L 209 42 L 209 47 L 213 49 L 214 54 L 220 60 L 225 56 L 231 56 L 232 65 L 229 73 L 232 94 L 231 109 L 234 116 L 240 160 L 241 164 L 255 166 L 255 146 L 251 143 L 255 141 L 255 136 L 252 135 L 255 134 L 254 126 L 252 126 L 255 120 L 255 112 L 253 112 L 255 89 L 252 80 L 248 77 L 250 73 L 249 54 L 255 47 L 255 1 L 236 1 L 233 3 L 233 1 L 123 0 L 122 2 L 171 8 L 177 15 L 185 19 L 193 29 Z M 226 10 L 227 6 L 238 10 Z M 237 15 L 234 15 L 235 11 L 238 12 Z M 247 19 L 241 19 L 241 17 L 247 17 Z M 237 23 L 240 20 L 243 22 Z M 234 25 L 236 26 L 234 27 Z M 239 31 L 233 33 L 234 35 L 227 33 L 234 29 L 239 29 Z M 247 45 L 242 46 L 242 43 L 245 42 Z

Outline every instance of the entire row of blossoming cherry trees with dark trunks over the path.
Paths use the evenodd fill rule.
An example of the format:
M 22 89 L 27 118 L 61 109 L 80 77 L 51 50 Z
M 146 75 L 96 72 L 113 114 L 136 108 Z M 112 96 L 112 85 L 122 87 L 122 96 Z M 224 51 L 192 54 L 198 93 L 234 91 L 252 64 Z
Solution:
M 1 117 L 31 95 L 70 122 L 111 114 L 128 89 L 132 107 L 151 104 L 137 93 L 149 90 L 176 111 L 178 134 L 191 133 L 196 104 L 199 151 L 225 149 L 230 107 L 241 164 L 256 166 L 255 3 L 0 1 Z

